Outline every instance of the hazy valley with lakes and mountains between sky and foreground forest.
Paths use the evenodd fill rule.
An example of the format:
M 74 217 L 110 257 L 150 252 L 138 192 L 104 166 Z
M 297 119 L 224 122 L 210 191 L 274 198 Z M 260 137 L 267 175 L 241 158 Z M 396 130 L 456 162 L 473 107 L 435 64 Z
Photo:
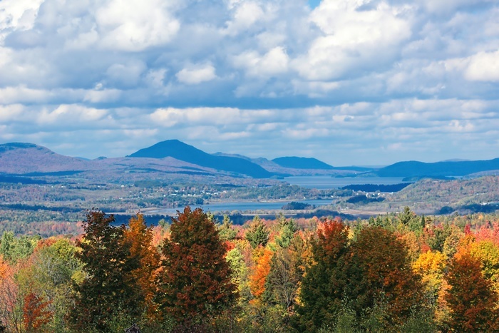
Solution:
M 495 160 L 465 161 L 464 167 L 459 163 L 420 163 L 416 169 L 430 173 L 422 176 L 412 162 L 378 169 L 339 168 L 310 158 L 208 154 L 178 140 L 123 158 L 96 160 L 9 143 L 0 145 L 0 232 L 77 233 L 77 222 L 91 208 L 123 219 L 140 211 L 150 215 L 153 224 L 186 205 L 210 210 L 219 219 L 230 215 L 239 224 L 254 215 L 279 213 L 355 220 L 404 207 L 426 215 L 495 212 Z M 460 178 L 442 177 L 456 175 L 456 170 L 464 170 Z M 309 200 L 314 205 L 302 205 L 307 209 L 286 209 L 289 203 Z

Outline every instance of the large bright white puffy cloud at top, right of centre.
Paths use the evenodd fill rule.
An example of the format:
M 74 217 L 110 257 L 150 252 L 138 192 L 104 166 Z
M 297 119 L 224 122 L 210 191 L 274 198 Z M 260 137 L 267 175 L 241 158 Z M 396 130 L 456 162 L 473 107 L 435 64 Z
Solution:
M 391 61 L 398 44 L 411 36 L 411 24 L 385 3 L 361 10 L 363 1 L 324 0 L 311 20 L 324 33 L 294 66 L 309 80 L 338 79 L 352 71 L 377 70 Z

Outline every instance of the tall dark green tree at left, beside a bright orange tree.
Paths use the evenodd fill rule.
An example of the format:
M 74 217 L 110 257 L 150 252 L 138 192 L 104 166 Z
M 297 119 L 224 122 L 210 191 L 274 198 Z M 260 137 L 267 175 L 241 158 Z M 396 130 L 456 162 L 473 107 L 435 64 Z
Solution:
M 136 320 L 140 314 L 136 282 L 130 272 L 139 267 L 130 257 L 130 243 L 125 241 L 125 226 L 113 227 L 113 215 L 91 210 L 83 222 L 83 240 L 77 242 L 86 277 L 74 285 L 71 322 L 77 331 L 89 327 L 110 331 L 110 322 L 123 315 Z

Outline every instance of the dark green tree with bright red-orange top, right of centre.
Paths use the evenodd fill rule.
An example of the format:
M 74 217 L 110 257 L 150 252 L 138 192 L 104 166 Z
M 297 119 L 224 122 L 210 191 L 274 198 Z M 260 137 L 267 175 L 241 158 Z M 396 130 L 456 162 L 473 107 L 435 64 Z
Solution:
M 302 281 L 299 313 L 300 330 L 315 331 L 334 324 L 341 309 L 346 275 L 344 259 L 349 248 L 349 228 L 339 220 L 326 220 L 312 240 L 314 265 Z

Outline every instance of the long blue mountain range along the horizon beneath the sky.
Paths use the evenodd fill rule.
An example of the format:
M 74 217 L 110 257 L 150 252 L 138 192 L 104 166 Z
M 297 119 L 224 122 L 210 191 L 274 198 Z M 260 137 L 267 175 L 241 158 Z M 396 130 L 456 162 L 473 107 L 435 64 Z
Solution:
M 369 161 L 366 161 L 368 164 Z M 179 140 L 165 140 L 123 158 L 85 160 L 54 153 L 33 143 L 0 145 L 0 173 L 4 176 L 68 175 L 100 173 L 108 178 L 137 178 L 147 173 L 168 175 L 274 178 L 287 175 L 334 175 L 378 177 L 442 177 L 494 173 L 499 158 L 456 160 L 438 163 L 406 161 L 384 168 L 333 167 L 316 158 L 282 157 L 274 160 L 226 153 L 205 153 Z M 114 175 L 114 176 L 111 176 Z M 119 176 L 119 177 L 118 177 Z

